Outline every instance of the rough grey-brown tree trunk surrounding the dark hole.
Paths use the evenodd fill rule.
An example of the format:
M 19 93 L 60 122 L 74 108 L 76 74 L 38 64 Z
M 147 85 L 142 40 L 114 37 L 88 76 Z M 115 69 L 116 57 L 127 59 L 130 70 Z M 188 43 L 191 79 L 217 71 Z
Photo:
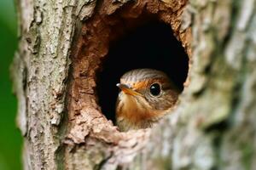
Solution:
M 255 1 L 17 6 L 12 77 L 24 169 L 256 169 Z M 96 75 L 109 43 L 151 19 L 172 26 L 189 54 L 189 76 L 158 126 L 120 133 L 98 105 Z

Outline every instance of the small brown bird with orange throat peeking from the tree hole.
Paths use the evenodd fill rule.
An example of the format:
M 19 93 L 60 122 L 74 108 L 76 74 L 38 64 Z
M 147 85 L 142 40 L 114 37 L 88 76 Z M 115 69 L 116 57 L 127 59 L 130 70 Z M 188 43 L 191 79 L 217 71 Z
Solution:
M 122 132 L 152 127 L 174 108 L 180 94 L 166 73 L 148 68 L 125 72 L 116 86 L 116 124 Z

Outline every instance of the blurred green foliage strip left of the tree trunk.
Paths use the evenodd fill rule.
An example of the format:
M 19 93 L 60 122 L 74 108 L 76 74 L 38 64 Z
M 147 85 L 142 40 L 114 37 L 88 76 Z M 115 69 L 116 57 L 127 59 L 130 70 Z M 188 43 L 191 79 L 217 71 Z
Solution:
M 16 48 L 15 4 L 12 0 L 0 0 L 0 170 L 21 169 L 21 136 L 15 124 L 17 101 L 9 78 Z

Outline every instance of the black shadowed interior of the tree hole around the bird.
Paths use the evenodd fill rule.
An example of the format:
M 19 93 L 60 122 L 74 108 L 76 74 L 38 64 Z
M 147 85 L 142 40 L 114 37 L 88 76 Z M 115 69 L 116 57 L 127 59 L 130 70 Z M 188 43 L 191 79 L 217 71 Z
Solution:
M 166 72 L 177 88 L 183 90 L 189 71 L 189 57 L 172 28 L 161 22 L 150 22 L 126 32 L 110 44 L 108 56 L 97 76 L 97 95 L 102 113 L 115 123 L 115 102 L 119 94 L 116 83 L 126 72 L 151 68 Z

